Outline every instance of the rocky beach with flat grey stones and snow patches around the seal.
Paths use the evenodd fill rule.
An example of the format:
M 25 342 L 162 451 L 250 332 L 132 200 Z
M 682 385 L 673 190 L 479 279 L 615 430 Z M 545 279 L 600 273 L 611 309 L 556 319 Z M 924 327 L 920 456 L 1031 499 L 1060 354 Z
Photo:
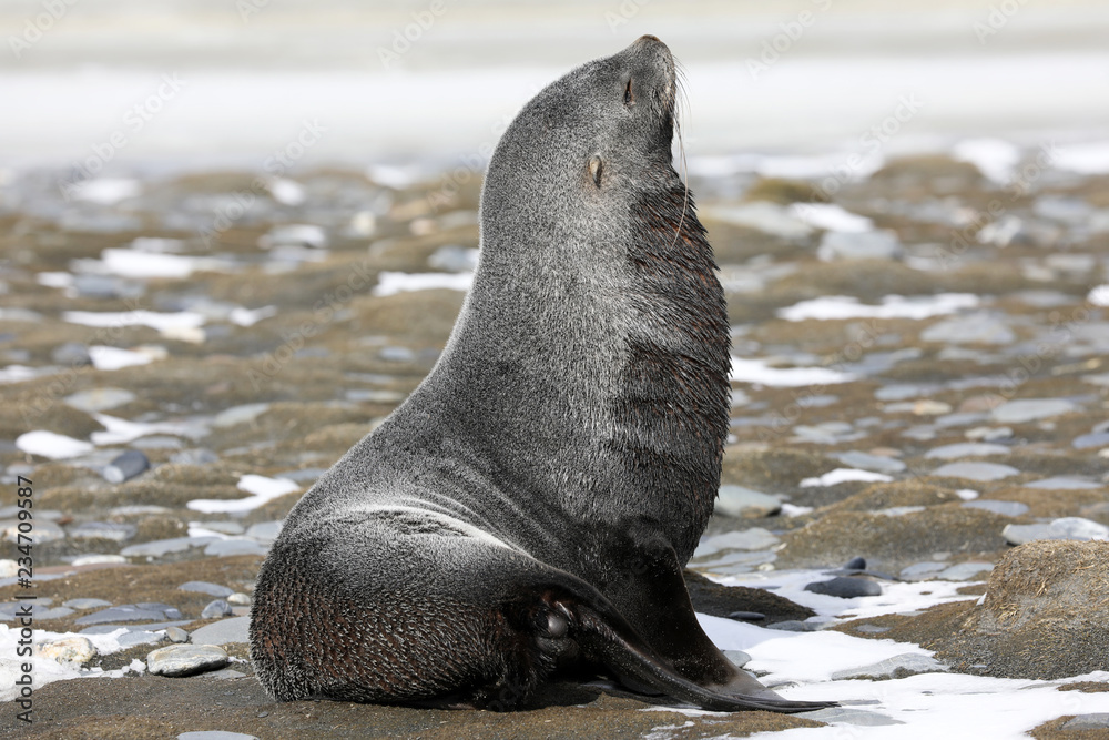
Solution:
M 258 565 L 301 494 L 435 363 L 477 259 L 479 176 L 67 190 L 64 172 L 6 171 L 6 700 L 28 609 L 35 649 L 34 722 L 7 703 L 0 732 L 936 737 L 974 695 L 1010 733 L 991 737 L 1100 737 L 1106 151 L 970 140 L 843 180 L 690 161 L 734 358 L 689 579 L 736 661 L 842 703 L 800 717 L 603 682 L 511 714 L 273 703 L 246 660 Z

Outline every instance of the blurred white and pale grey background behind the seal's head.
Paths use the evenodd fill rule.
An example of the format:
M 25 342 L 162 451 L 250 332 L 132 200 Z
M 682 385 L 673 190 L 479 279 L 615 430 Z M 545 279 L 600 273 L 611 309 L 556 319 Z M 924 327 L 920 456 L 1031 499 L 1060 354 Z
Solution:
M 642 33 L 685 68 L 694 166 L 867 150 L 884 122 L 886 153 L 1109 129 L 1097 0 L 2 0 L 0 163 L 108 159 L 119 133 L 104 174 L 257 169 L 309 121 L 323 133 L 298 166 L 435 169 L 480 156 L 540 87 Z

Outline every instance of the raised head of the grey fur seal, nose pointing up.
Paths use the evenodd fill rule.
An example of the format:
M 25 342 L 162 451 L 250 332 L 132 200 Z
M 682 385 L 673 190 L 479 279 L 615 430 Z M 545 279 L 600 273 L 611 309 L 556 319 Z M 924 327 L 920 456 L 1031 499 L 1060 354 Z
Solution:
M 564 243 L 625 241 L 614 214 L 680 186 L 671 166 L 676 93 L 670 49 L 644 36 L 537 94 L 501 138 L 482 209 L 484 247 L 536 230 Z

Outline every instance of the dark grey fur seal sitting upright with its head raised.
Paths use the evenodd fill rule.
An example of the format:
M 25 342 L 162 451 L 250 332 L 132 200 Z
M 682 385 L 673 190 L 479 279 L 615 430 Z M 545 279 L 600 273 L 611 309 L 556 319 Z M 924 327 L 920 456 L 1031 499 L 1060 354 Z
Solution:
M 274 698 L 511 709 L 604 671 L 712 710 L 828 706 L 734 668 L 682 578 L 720 481 L 730 343 L 672 166 L 675 93 L 644 36 L 505 132 L 438 363 L 262 566 L 251 658 Z

